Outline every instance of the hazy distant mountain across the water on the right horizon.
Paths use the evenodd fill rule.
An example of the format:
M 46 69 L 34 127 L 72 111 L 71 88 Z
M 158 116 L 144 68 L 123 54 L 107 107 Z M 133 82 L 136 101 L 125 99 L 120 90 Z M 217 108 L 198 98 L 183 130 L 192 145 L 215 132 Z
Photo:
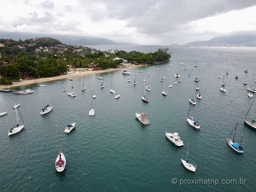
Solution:
M 193 41 L 187 43 L 190 46 L 208 46 L 208 45 L 243 45 L 256 46 L 256 35 L 233 35 L 214 37 L 209 41 Z

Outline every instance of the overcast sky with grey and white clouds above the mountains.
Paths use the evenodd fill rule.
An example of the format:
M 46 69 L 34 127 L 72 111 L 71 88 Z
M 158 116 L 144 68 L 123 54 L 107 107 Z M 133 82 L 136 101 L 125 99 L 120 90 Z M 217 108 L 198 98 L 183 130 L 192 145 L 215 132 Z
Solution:
M 0 0 L 0 31 L 137 44 L 256 34 L 256 0 Z

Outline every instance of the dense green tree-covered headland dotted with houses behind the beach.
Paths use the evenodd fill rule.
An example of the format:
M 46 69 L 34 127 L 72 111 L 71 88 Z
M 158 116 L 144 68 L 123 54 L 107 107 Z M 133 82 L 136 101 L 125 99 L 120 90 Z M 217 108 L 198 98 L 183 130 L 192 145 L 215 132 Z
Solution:
M 51 37 L 14 41 L 0 39 L 0 84 L 12 84 L 12 80 L 51 77 L 72 68 L 116 68 L 122 60 L 133 64 L 154 63 L 171 58 L 169 49 L 158 49 L 154 53 L 100 51 L 84 46 L 62 44 Z

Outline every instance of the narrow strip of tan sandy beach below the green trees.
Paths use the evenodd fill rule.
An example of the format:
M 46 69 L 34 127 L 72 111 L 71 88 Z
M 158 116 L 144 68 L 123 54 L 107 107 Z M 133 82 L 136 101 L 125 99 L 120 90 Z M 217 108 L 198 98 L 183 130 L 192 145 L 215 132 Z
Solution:
M 28 85 L 28 84 L 38 84 L 38 83 L 43 83 L 43 82 L 49 82 L 49 81 L 55 81 L 55 80 L 60 80 L 60 79 L 66 79 L 70 77 L 76 77 L 76 76 L 83 76 L 83 75 L 94 75 L 97 73 L 106 73 L 106 72 L 111 72 L 111 71 L 118 71 L 118 70 L 124 70 L 128 68 L 136 68 L 136 67 L 144 67 L 147 66 L 147 64 L 144 65 L 133 65 L 129 67 L 124 67 L 124 68 L 108 68 L 104 70 L 98 70 L 98 71 L 85 71 L 85 72 L 80 72 L 80 73 L 70 73 L 70 74 L 65 74 L 65 75 L 59 75 L 59 76 L 54 76 L 54 77 L 44 77 L 44 78 L 39 78 L 39 79 L 29 79 L 29 80 L 22 80 L 19 82 L 12 82 L 12 85 L 0 85 L 0 89 L 7 89 L 8 87 L 19 87 L 23 85 Z M 36 81 L 36 82 L 34 82 Z

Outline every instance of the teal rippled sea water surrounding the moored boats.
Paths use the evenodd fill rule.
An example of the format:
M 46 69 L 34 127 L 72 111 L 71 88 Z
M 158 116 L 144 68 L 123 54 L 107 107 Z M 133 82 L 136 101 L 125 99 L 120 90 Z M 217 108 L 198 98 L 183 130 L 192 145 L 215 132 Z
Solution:
M 106 48 L 111 46 L 95 47 L 111 49 Z M 119 50 L 153 52 L 157 48 L 130 45 Z M 45 106 L 44 87 L 34 84 L 16 88 L 24 90 L 33 86 L 35 92 L 29 95 L 0 92 L 3 108 L 8 112 L 0 117 L 1 191 L 254 191 L 256 132 L 245 126 L 243 119 L 253 100 L 248 97 L 247 87 L 256 77 L 255 48 L 170 47 L 170 51 L 172 61 L 160 65 L 162 75 L 167 77 L 167 96 L 161 93 L 163 82 L 159 81 L 161 71 L 156 70 L 156 65 L 129 69 L 132 81 L 136 73 L 135 86 L 132 81 L 127 82 L 129 77 L 121 75 L 121 71 L 104 73 L 103 89 L 100 89 L 102 80 L 97 79 L 99 74 L 84 76 L 84 92 L 81 76 L 74 77 L 73 81 L 43 83 L 53 105 L 53 110 L 44 116 L 40 115 L 40 109 Z M 183 70 L 185 65 L 180 62 L 187 63 L 188 69 Z M 170 70 L 166 70 L 167 64 L 171 64 Z M 198 68 L 193 67 L 195 64 Z M 224 81 L 228 91 L 221 92 L 222 79 L 218 74 L 223 76 L 227 68 L 229 75 L 224 75 Z M 143 73 L 136 72 L 139 69 Z M 244 69 L 249 73 L 244 73 Z M 177 70 L 182 81 L 173 84 Z M 189 71 L 191 76 L 187 76 Z M 244 85 L 246 75 L 248 84 Z M 109 91 L 111 76 L 119 99 Z M 194 81 L 196 76 L 200 77 L 199 83 Z M 148 103 L 141 100 L 144 78 L 146 85 L 151 86 L 151 91 L 146 91 Z M 198 100 L 195 88 L 200 83 L 203 98 Z M 170 84 L 172 88 L 168 87 Z M 71 85 L 75 88 L 71 89 Z M 253 85 L 256 87 L 255 82 Z M 67 92 L 62 92 L 64 87 L 77 96 L 69 97 Z M 95 116 L 89 116 L 93 88 L 97 96 L 93 99 Z M 201 123 L 200 130 L 186 121 L 188 100 L 192 97 L 197 104 L 190 109 L 190 115 Z M 16 113 L 12 109 L 15 102 L 20 103 L 26 125 L 21 132 L 8 136 L 8 129 L 16 125 Z M 141 124 L 135 117 L 136 112 L 144 111 L 150 125 Z M 75 121 L 75 130 L 64 134 L 66 125 Z M 244 154 L 236 153 L 226 141 L 236 122 L 236 141 L 240 141 L 243 133 Z M 61 173 L 54 168 L 58 154 L 56 125 L 67 160 L 66 169 Z M 165 131 L 178 132 L 184 147 L 167 140 Z M 188 160 L 197 165 L 196 172 L 188 171 L 180 161 L 182 156 L 186 158 L 188 141 Z M 242 178 L 246 184 L 180 186 L 172 184 L 172 178 Z

